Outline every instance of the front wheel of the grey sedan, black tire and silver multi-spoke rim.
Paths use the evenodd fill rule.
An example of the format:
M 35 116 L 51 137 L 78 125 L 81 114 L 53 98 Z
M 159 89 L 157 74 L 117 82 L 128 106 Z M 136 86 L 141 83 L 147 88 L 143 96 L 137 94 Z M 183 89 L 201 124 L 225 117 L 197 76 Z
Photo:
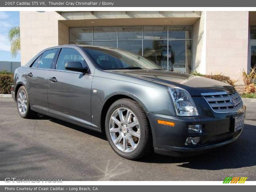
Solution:
M 120 99 L 109 107 L 105 132 L 111 148 L 126 159 L 139 159 L 152 151 L 147 115 L 134 100 Z

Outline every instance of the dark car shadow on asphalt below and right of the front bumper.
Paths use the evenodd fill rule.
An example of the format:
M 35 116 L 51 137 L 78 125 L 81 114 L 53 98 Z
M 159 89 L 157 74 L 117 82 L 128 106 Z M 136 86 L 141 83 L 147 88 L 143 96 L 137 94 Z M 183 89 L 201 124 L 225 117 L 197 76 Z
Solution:
M 256 165 L 256 126 L 245 124 L 240 138 L 234 143 L 215 148 L 194 157 L 171 157 L 152 154 L 140 159 L 145 163 L 180 163 L 177 166 L 199 170 L 221 170 Z

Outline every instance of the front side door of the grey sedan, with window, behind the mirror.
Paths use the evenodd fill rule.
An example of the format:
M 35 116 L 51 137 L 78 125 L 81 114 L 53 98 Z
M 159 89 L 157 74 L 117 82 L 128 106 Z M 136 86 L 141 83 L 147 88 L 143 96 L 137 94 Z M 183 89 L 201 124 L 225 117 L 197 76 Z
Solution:
M 68 61 L 88 67 L 76 49 L 60 50 L 55 69 L 49 72 L 49 113 L 90 127 L 92 75 L 66 70 Z

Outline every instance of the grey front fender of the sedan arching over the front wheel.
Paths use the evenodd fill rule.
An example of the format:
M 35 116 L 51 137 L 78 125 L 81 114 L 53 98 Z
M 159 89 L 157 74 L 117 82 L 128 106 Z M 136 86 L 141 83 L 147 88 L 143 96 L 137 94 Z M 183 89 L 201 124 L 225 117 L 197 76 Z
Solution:
M 165 85 L 96 70 L 92 80 L 92 126 L 100 129 L 102 108 L 109 98 L 116 95 L 132 98 L 145 112 L 175 116 Z

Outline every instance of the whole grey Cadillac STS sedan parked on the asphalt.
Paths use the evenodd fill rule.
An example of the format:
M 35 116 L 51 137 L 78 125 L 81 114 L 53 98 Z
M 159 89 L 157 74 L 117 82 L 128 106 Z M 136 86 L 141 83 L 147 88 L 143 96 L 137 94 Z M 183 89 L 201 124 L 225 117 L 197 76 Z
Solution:
M 235 141 L 244 126 L 234 87 L 106 47 L 45 49 L 15 70 L 12 96 L 21 117 L 36 112 L 104 132 L 127 159 L 153 148 L 194 155 Z

